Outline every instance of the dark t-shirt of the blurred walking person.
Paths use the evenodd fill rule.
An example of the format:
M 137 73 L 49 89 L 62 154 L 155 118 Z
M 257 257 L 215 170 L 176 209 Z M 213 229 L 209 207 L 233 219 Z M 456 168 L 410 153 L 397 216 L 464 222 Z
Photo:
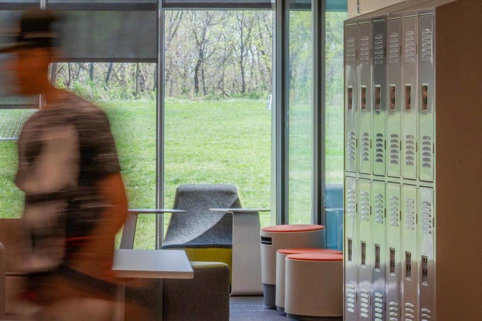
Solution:
M 92 103 L 64 92 L 25 123 L 18 150 L 15 182 L 25 192 L 30 238 L 26 270 L 52 270 L 102 220 L 107 204 L 98 182 L 121 170 L 109 121 Z

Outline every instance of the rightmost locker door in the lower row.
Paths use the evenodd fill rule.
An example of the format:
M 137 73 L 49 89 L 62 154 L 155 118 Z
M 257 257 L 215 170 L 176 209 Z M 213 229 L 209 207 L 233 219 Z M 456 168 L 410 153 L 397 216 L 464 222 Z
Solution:
M 420 295 L 420 320 L 431 321 L 435 319 L 434 297 L 434 201 L 433 188 L 420 187 L 418 198 L 418 224 L 419 242 L 419 295 Z

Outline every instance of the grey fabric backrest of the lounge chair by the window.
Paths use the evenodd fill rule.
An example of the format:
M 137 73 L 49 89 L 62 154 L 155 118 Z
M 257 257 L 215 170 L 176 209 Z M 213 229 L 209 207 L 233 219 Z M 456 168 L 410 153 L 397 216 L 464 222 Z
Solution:
M 239 208 L 241 201 L 234 185 L 180 185 L 176 189 L 174 208 L 185 214 L 173 214 L 163 248 L 230 247 L 232 215 L 209 208 Z

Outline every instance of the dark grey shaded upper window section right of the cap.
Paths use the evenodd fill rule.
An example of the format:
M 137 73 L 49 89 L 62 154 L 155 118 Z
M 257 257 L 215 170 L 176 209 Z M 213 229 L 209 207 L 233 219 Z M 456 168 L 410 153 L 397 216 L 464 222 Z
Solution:
M 64 11 L 65 59 L 157 59 L 157 11 Z

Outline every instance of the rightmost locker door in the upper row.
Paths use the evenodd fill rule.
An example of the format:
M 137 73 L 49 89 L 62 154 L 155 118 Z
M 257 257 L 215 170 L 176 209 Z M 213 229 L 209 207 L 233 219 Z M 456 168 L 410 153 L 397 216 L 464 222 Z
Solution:
M 433 181 L 434 141 L 434 69 L 433 69 L 433 15 L 419 18 L 419 64 L 420 64 L 420 107 L 418 153 L 419 177 Z

